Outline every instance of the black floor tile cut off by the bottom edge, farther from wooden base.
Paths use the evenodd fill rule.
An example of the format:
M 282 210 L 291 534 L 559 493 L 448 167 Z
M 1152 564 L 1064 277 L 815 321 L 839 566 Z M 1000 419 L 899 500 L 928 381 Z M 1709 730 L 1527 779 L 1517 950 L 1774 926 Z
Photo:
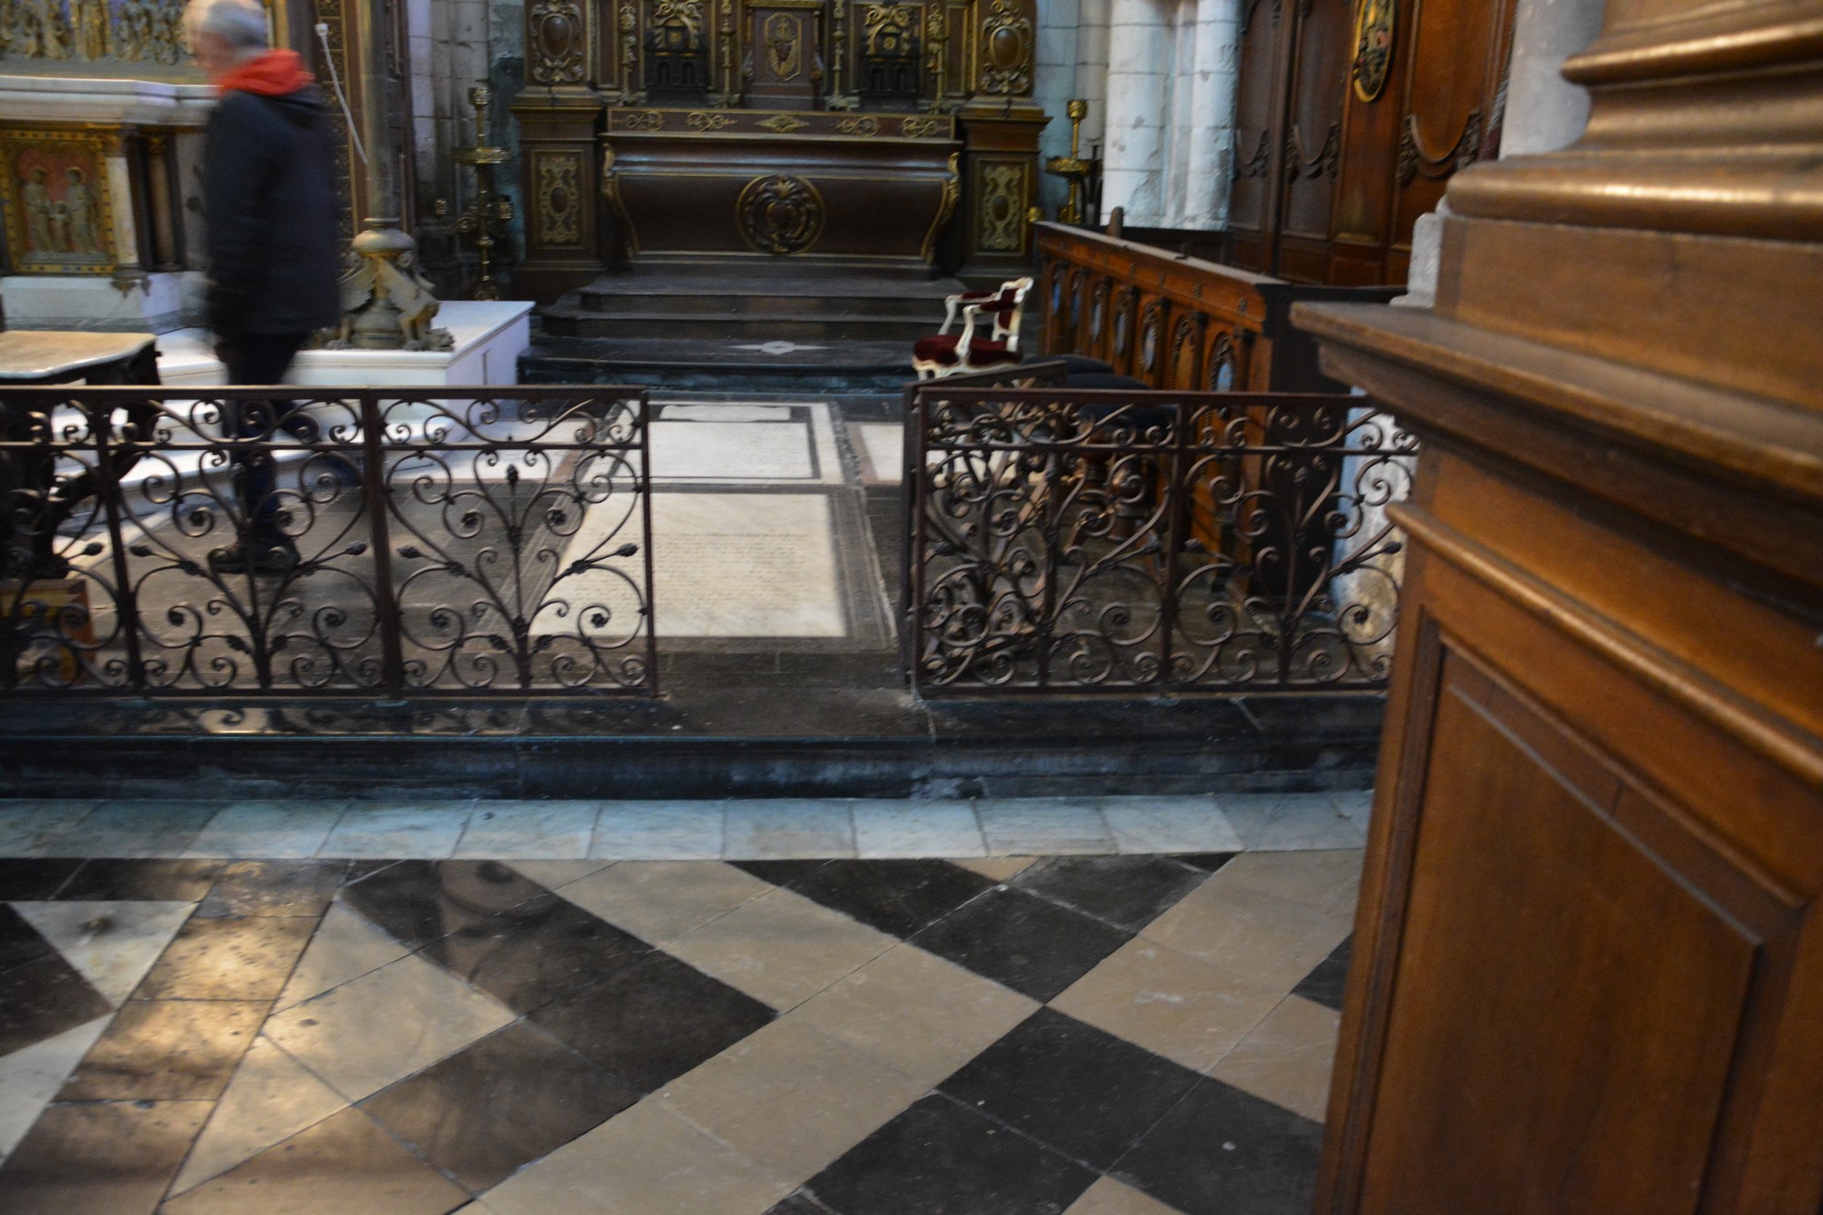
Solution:
M 837 1215 L 1057 1215 L 1092 1184 L 1083 1166 L 933 1093 L 804 1189 Z

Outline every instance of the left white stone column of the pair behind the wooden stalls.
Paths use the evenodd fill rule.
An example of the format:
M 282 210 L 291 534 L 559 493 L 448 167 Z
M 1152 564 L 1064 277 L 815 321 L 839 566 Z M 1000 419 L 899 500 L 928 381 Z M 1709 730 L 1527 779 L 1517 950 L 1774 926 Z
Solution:
M 1165 89 L 1170 36 L 1158 0 L 1108 5 L 1108 104 L 1101 213 L 1127 208 L 1127 223 L 1163 221 Z

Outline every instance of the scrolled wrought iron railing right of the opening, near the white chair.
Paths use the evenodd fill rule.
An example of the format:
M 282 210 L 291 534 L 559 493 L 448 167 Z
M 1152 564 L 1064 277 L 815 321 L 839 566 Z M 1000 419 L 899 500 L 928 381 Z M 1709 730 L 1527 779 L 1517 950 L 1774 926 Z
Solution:
M 1365 398 L 908 398 L 922 695 L 1385 686 L 1413 436 Z

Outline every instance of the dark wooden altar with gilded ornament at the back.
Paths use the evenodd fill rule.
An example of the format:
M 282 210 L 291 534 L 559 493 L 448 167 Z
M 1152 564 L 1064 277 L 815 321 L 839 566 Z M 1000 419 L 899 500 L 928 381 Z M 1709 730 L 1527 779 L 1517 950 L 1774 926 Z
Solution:
M 520 120 L 541 303 L 603 270 L 1030 261 L 1034 0 L 536 0 Z

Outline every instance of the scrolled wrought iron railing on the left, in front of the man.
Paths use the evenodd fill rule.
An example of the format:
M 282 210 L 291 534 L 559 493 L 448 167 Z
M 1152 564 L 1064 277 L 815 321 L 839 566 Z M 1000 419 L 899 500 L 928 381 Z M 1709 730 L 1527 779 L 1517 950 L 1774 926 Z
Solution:
M 656 693 L 640 389 L 0 390 L 0 695 Z

